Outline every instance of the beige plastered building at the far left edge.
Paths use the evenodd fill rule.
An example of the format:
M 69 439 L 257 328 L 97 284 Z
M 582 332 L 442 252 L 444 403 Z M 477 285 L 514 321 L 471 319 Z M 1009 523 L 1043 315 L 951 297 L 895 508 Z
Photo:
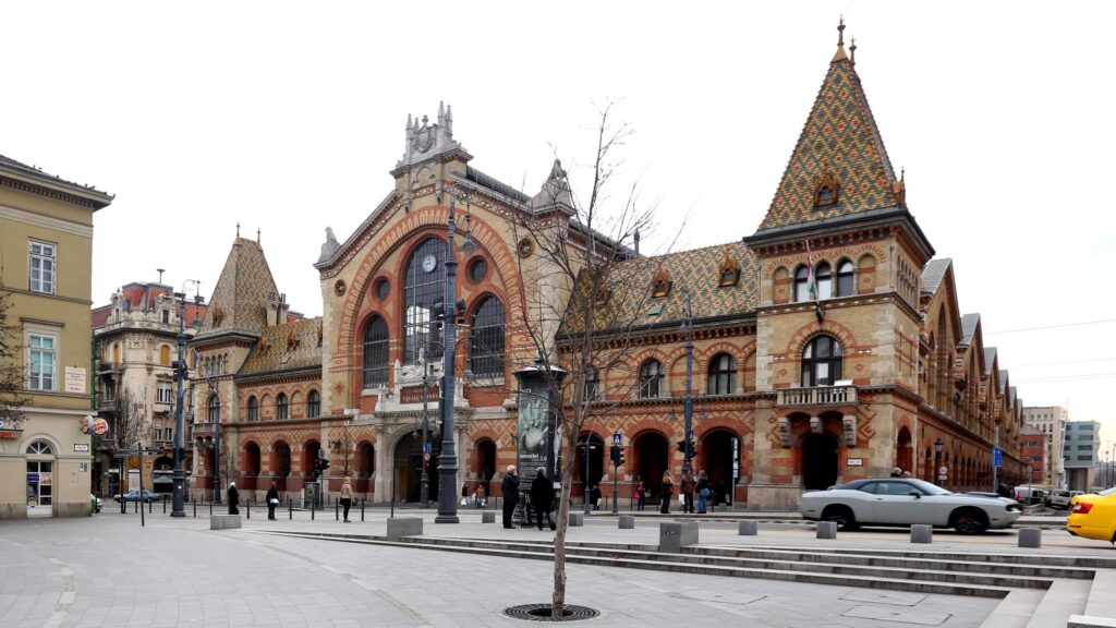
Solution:
M 89 514 L 93 215 L 112 202 L 0 155 L 0 291 L 28 398 L 0 426 L 0 518 Z

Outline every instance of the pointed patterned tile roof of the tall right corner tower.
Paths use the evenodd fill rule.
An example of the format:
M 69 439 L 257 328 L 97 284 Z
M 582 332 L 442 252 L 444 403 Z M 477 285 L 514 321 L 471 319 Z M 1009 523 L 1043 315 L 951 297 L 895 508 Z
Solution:
M 854 66 L 838 44 L 760 232 L 904 206 Z M 838 185 L 837 200 L 815 207 L 815 193 L 826 173 Z

